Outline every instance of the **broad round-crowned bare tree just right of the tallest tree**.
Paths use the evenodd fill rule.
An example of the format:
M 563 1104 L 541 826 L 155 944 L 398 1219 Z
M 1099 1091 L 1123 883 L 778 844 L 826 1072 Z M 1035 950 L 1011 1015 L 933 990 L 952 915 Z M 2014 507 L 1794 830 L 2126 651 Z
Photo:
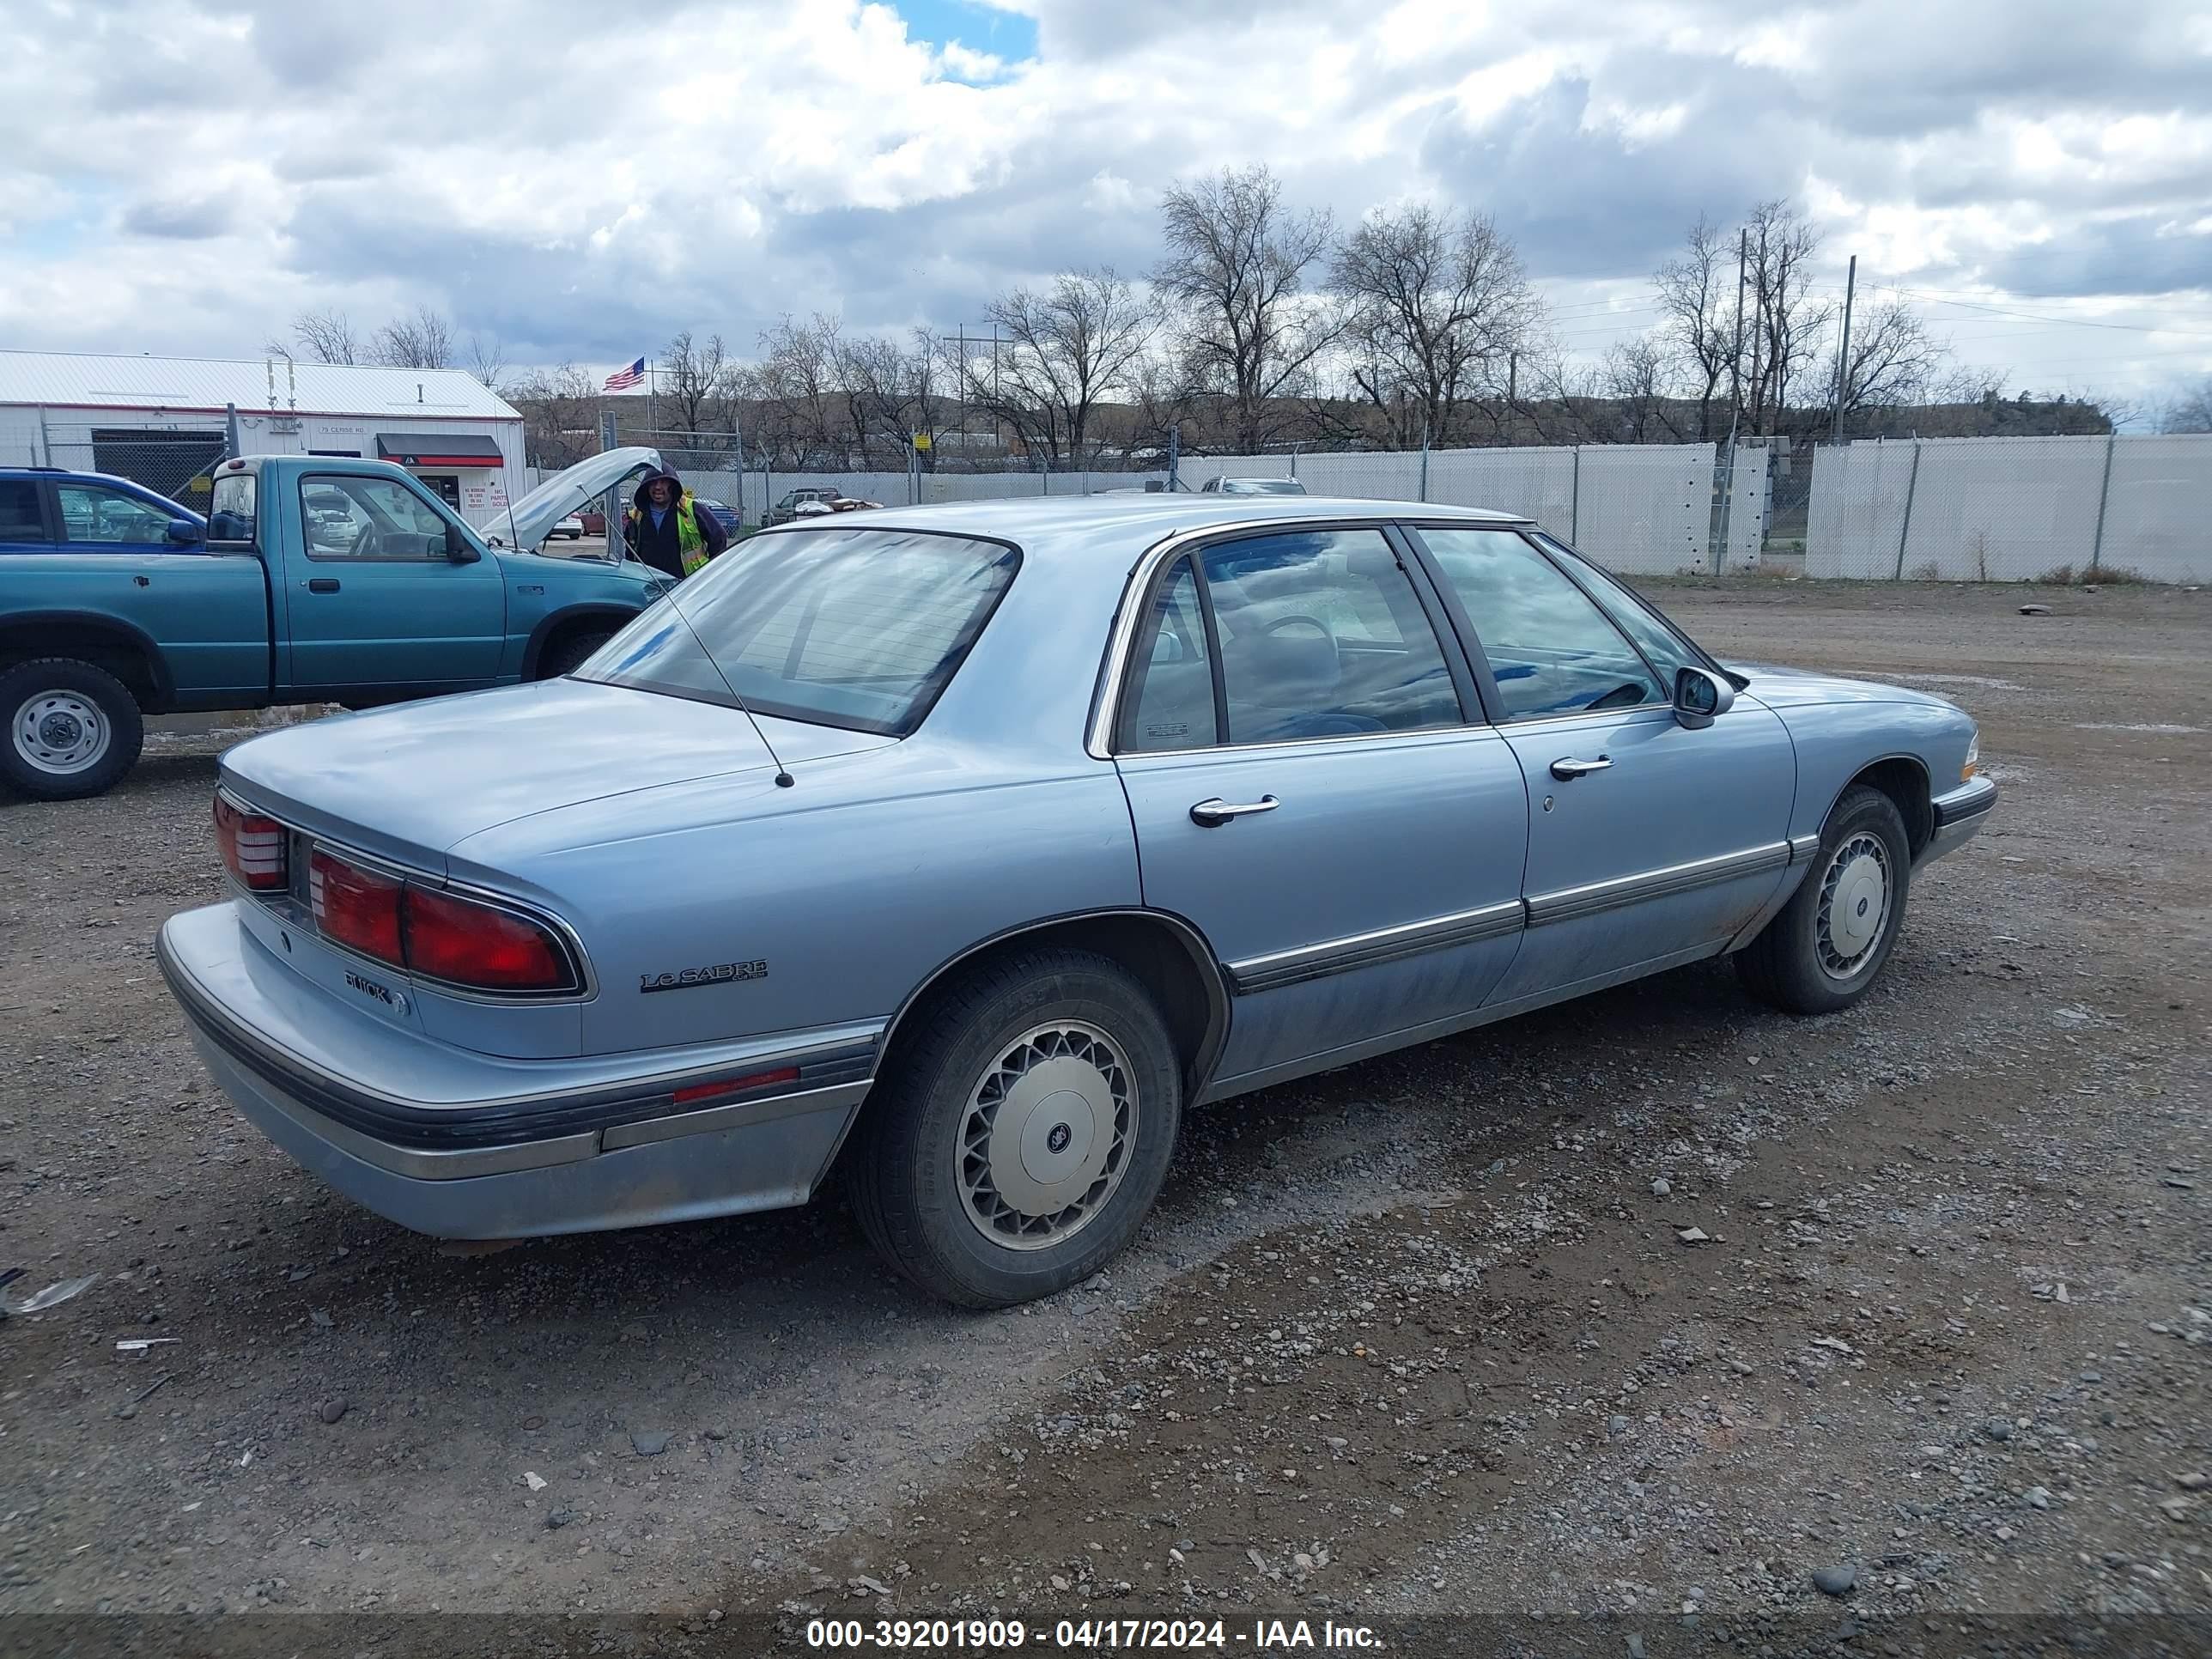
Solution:
M 1444 442 L 1453 414 L 1502 389 L 1542 316 L 1520 252 L 1498 226 L 1416 204 L 1376 210 L 1336 250 L 1352 378 L 1400 449 Z

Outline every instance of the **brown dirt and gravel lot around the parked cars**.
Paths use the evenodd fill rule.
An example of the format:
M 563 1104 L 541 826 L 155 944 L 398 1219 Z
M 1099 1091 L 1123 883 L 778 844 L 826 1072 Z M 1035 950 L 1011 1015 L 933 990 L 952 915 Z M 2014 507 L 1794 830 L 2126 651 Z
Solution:
M 250 1130 L 161 989 L 223 734 L 0 807 L 0 1265 L 100 1274 L 0 1323 L 0 1615 L 2203 1650 L 2212 593 L 1661 597 L 1982 721 L 2006 796 L 1876 993 L 1794 1022 L 1705 964 L 1199 1113 L 1139 1248 L 998 1316 L 916 1301 L 834 1197 L 440 1254 Z

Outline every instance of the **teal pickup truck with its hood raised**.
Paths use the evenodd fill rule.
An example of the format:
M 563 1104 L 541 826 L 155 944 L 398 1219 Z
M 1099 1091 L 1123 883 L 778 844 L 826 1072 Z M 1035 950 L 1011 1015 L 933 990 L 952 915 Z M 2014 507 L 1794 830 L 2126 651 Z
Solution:
M 208 520 L 122 480 L 0 480 L 0 781 L 100 794 L 144 714 L 345 703 L 551 679 L 672 584 L 622 555 L 549 557 L 553 526 L 659 469 L 611 449 L 549 478 L 480 535 L 380 460 L 248 456 L 215 467 Z M 20 522 L 15 522 L 20 520 Z

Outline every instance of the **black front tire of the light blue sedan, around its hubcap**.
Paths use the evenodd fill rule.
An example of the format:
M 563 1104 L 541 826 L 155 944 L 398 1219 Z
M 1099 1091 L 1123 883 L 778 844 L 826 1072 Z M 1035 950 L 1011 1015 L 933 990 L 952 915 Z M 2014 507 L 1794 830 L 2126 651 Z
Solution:
M 1854 858 L 1840 858 L 1840 854 L 1847 847 L 1865 849 L 1869 841 L 1880 849 L 1887 911 L 1863 949 L 1845 951 L 1843 945 L 1851 942 L 1849 936 L 1843 936 L 1843 945 L 1838 945 L 1834 933 L 1838 896 L 1860 914 L 1878 900 L 1867 894 L 1854 900 L 1849 891 L 1843 891 L 1843 885 L 1851 880 L 1851 867 L 1867 854 L 1860 852 Z M 1761 929 L 1759 938 L 1736 953 L 1736 978 L 1743 980 L 1743 989 L 1787 1013 L 1849 1009 L 1880 978 L 1889 949 L 1898 942 L 1911 874 L 1911 843 L 1905 836 L 1905 818 L 1898 816 L 1896 801 L 1863 783 L 1845 790 L 1820 827 L 1820 852 L 1814 854 L 1812 869 L 1805 872 L 1796 894 Z M 1845 920 L 1845 925 L 1849 922 Z M 1827 931 L 1823 931 L 1825 927 Z

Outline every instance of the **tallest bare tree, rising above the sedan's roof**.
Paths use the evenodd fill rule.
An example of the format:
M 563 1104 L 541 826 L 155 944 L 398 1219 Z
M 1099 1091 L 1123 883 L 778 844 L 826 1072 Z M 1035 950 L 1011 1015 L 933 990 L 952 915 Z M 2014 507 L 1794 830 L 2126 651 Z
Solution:
M 1305 303 L 1305 274 L 1329 250 L 1329 215 L 1290 212 L 1265 168 L 1177 184 L 1161 197 L 1166 257 L 1152 272 L 1177 310 L 1183 365 L 1225 396 L 1239 449 L 1261 449 L 1279 429 L 1270 403 L 1332 343 L 1325 310 Z

